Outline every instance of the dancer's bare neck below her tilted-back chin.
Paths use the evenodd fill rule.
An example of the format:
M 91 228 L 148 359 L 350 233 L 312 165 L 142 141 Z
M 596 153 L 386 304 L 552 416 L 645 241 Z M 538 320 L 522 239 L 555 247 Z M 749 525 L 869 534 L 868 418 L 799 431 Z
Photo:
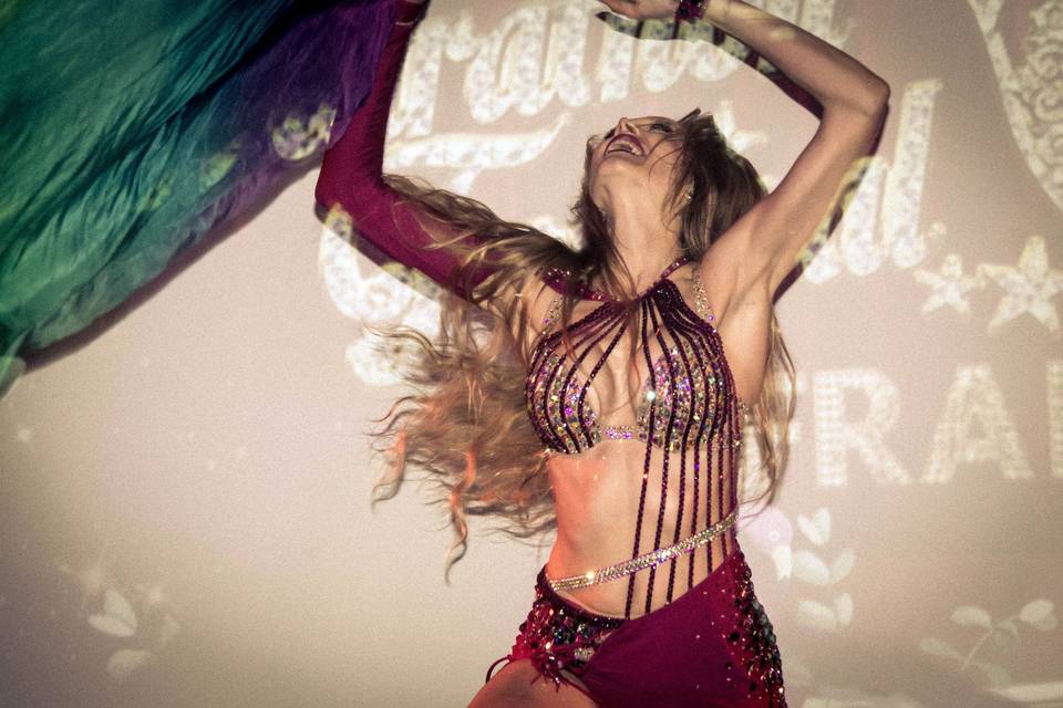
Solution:
M 657 209 L 622 206 L 610 210 L 606 217 L 617 256 L 631 274 L 634 293 L 656 283 L 664 269 L 683 256 L 678 218 L 668 225 L 662 222 Z M 618 270 L 622 272 L 622 269 Z

